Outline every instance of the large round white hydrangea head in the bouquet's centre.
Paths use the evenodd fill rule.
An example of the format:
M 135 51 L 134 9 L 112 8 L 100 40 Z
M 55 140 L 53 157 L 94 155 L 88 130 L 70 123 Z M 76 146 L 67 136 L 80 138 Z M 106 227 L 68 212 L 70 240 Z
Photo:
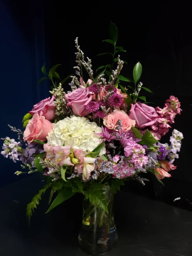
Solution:
M 86 117 L 71 116 L 52 124 L 52 130 L 48 133 L 47 143 L 51 146 L 71 146 L 73 149 L 82 149 L 89 154 L 100 143 L 101 127 L 95 122 L 90 122 Z M 100 156 L 106 153 L 103 148 Z

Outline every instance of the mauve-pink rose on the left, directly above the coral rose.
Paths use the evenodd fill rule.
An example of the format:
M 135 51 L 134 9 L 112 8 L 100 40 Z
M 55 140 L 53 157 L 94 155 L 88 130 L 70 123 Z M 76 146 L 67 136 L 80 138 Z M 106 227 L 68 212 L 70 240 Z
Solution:
M 55 96 L 53 95 L 51 100 L 50 97 L 41 100 L 39 103 L 33 106 L 33 109 L 29 113 L 33 116 L 38 113 L 39 116 L 44 116 L 47 120 L 52 120 L 55 117 L 55 106 L 53 100 Z

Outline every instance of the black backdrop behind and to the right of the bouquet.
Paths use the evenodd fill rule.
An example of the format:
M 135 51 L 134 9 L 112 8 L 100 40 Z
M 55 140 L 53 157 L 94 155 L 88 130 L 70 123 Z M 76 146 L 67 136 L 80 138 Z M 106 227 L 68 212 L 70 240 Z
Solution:
M 163 107 L 170 95 L 179 98 L 183 111 L 175 118 L 170 132 L 163 137 L 163 142 L 168 142 L 174 128 L 184 134 L 180 157 L 174 162 L 178 168 L 171 172 L 172 178 L 163 180 L 165 187 L 154 176 L 148 176 L 150 181 L 145 187 L 132 181 L 127 182 L 123 189 L 192 210 L 187 201 L 192 202 L 192 38 L 188 9 L 184 2 L 179 5 L 172 1 L 153 4 L 103 1 L 88 2 L 86 5 L 68 2 L 63 5 L 56 0 L 54 4 L 48 4 L 45 30 L 50 36 L 50 65 L 61 64 L 58 72 L 63 79 L 74 73 L 76 36 L 85 56 L 91 58 L 94 71 L 110 63 L 110 55 L 106 55 L 107 62 L 106 56 L 97 57 L 97 54 L 111 50 L 112 46 L 102 43 L 102 40 L 108 38 L 110 21 L 114 22 L 119 30 L 118 45 L 127 51 L 121 54 L 122 59 L 128 61 L 122 75 L 131 78 L 134 65 L 140 61 L 143 67 L 141 81 L 153 92 L 145 92 L 147 101 L 154 102 L 151 106 Z M 65 91 L 69 89 L 65 85 Z M 176 197 L 181 199 L 173 203 Z

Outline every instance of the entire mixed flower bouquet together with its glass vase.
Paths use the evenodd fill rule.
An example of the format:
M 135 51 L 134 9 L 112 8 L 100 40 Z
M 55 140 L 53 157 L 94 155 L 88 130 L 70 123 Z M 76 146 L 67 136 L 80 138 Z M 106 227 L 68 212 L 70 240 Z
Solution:
M 151 92 L 139 81 L 140 62 L 133 68 L 133 81 L 120 75 L 124 61 L 116 54 L 125 50 L 116 46 L 118 31 L 113 23 L 110 36 L 104 41 L 114 47 L 112 64 L 99 67 L 102 71 L 96 77 L 76 38 L 76 76 L 69 76 L 69 92 L 63 90 L 69 77 L 57 82 L 59 65 L 48 74 L 42 67 L 45 76 L 40 82 L 52 82 L 52 98 L 34 105 L 23 117 L 24 132 L 9 125 L 19 134 L 19 142 L 6 137 L 1 152 L 14 162 L 21 161 L 24 171 L 41 172 L 47 178 L 27 205 L 29 219 L 46 190 L 50 192 L 47 212 L 75 193 L 84 195 L 79 244 L 84 251 L 98 255 L 112 251 L 117 241 L 116 190 L 128 179 L 144 185 L 147 172 L 154 173 L 161 183 L 164 177 L 171 177 L 169 171 L 176 169 L 173 162 L 183 139 L 181 132 L 173 130 L 170 145 L 160 142 L 180 114 L 180 102 L 170 96 L 163 108 L 148 106 L 146 97 L 140 96 L 142 90 Z M 107 53 L 99 55 L 103 54 Z

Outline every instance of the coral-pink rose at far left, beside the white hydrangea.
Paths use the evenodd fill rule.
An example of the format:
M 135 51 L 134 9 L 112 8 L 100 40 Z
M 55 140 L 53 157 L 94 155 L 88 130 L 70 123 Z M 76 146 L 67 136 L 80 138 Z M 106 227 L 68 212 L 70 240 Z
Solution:
M 52 129 L 51 122 L 45 119 L 44 116 L 34 114 L 28 122 L 23 133 L 23 140 L 31 143 L 33 140 L 45 141 L 48 132 Z

